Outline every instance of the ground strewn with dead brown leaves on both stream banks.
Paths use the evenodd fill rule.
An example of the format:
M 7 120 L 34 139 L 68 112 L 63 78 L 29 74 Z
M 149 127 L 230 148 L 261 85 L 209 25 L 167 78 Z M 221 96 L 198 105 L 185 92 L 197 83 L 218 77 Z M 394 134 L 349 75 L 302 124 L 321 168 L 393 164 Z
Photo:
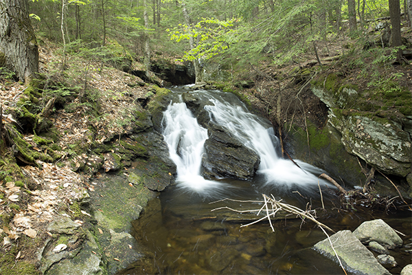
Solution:
M 409 32 L 404 37 L 412 41 L 411 35 L 412 33 Z M 368 85 L 369 79 L 358 77 L 363 76 L 363 68 L 371 66 L 378 70 L 374 74 L 390 76 L 385 78 L 389 80 L 392 79 L 391 76 L 402 73 L 402 76 L 398 74 L 399 85 L 411 87 L 411 66 L 376 67 L 372 66 L 374 60 L 371 58 L 359 61 L 359 58 L 355 57 L 351 66 L 347 63 L 349 59 L 345 59 L 345 63 L 342 63 L 339 58 L 332 58 L 343 56 L 345 52 L 358 47 L 350 39 L 340 39 L 327 44 L 319 43 L 318 47 L 325 68 L 322 71 L 319 71 L 316 58 L 311 53 L 301 56 L 300 64 L 290 63 L 279 67 L 269 62 L 262 62 L 257 67 L 251 66 L 247 72 L 239 76 L 238 80 L 253 80 L 255 83 L 253 87 L 233 86 L 233 89 L 249 98 L 255 109 L 273 122 L 293 121 L 305 126 L 308 119 L 321 127 L 327 119 L 328 108 L 320 102 L 319 98 L 310 93 L 310 81 L 315 75 L 339 73 L 345 75 L 347 80 L 356 80 L 360 89 L 372 89 Z M 132 102 L 146 98 L 152 89 L 150 85 L 136 85 L 136 83 L 143 83 L 137 76 L 71 56 L 67 57 L 68 67 L 65 73 L 59 72 L 61 56 L 56 54 L 56 50 L 54 45 L 48 43 L 40 45 L 40 72 L 47 76 L 48 83 L 67 83 L 67 79 L 70 79 L 73 87 L 87 85 L 90 91 L 94 91 L 88 96 L 92 98 L 93 104 L 98 104 L 99 112 L 96 115 L 93 106 L 80 102 L 76 97 L 72 98 L 67 107 L 54 109 L 49 120 L 56 126 L 60 136 L 54 147 L 56 148 L 54 153 L 59 155 L 55 162 L 38 160 L 37 165 L 19 162 L 19 167 L 16 167 L 13 161 L 14 148 L 3 146 L 4 158 L 0 165 L 3 171 L 8 170 L 12 173 L 0 181 L 2 224 L 0 253 L 3 255 L 0 257 L 1 274 L 5 272 L 3 270 L 5 267 L 20 270 L 20 274 L 36 274 L 35 269 L 30 271 L 32 265 L 27 263 L 38 267 L 38 255 L 34 252 L 38 250 L 41 240 L 44 241 L 52 235 L 47 231 L 49 222 L 58 219 L 61 215 L 67 215 L 64 212 L 80 211 L 79 218 L 75 222 L 82 226 L 82 217 L 87 217 L 89 213 L 80 209 L 75 210 L 71 205 L 76 199 L 82 199 L 84 190 L 94 192 L 91 179 L 100 177 L 100 173 L 98 171 L 76 172 L 80 167 L 93 166 L 93 162 L 98 161 L 85 153 L 78 154 L 77 152 L 80 151 L 76 150 L 76 147 L 87 148 L 87 144 L 91 142 L 102 144 L 114 135 L 128 133 L 127 122 L 133 120 L 133 113 L 128 107 Z M 356 64 L 361 65 L 356 67 Z M 84 68 L 87 68 L 87 71 Z M 87 80 L 85 80 L 86 74 Z M 19 108 L 19 100 L 25 95 L 27 87 L 5 75 L 0 78 L 0 86 L 3 124 L 6 127 L 15 125 L 17 131 L 23 133 L 23 139 L 30 146 L 30 150 L 43 154 L 49 153 L 51 145 L 39 141 L 38 137 L 28 129 L 23 129 L 13 116 Z M 279 91 L 282 91 L 282 94 Z M 39 104 L 44 107 L 46 103 Z M 374 104 L 381 103 L 374 102 Z M 91 140 L 91 128 L 95 129 L 93 140 Z M 49 146 L 45 146 L 47 144 Z M 107 164 L 106 167 L 109 166 Z M 36 241 L 30 242 L 29 238 Z M 20 245 L 15 245 L 19 242 Z M 27 269 L 24 271 L 26 273 L 23 273 L 24 269 Z

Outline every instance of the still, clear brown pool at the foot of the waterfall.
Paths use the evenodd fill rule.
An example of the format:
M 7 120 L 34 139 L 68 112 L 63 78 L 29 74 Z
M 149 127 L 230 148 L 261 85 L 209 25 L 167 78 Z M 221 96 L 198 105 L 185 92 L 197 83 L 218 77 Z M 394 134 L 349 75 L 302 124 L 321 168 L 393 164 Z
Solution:
M 262 203 L 220 201 L 262 200 L 261 193 L 275 194 L 275 188 L 257 188 L 250 182 L 229 182 L 214 197 L 184 192 L 172 187 L 150 201 L 148 208 L 133 222 L 135 237 L 147 249 L 146 263 L 137 263 L 123 274 L 343 274 L 334 261 L 321 256 L 312 245 L 325 234 L 311 221 L 279 214 L 271 229 L 267 219 L 243 226 L 259 217 L 234 210 L 260 209 Z M 278 192 L 284 202 L 301 209 L 317 209 L 319 221 L 335 231 L 355 230 L 363 221 L 384 219 L 403 232 L 404 243 L 411 240 L 411 212 L 385 213 L 382 210 L 342 210 L 334 190 L 323 188 L 328 211 L 321 209 L 319 194 L 299 190 L 299 186 Z M 299 192 L 299 193 L 298 193 Z M 211 211 L 214 210 L 214 211 Z M 400 267 L 411 263 L 411 254 L 393 250 Z M 400 267 L 389 270 L 400 274 Z

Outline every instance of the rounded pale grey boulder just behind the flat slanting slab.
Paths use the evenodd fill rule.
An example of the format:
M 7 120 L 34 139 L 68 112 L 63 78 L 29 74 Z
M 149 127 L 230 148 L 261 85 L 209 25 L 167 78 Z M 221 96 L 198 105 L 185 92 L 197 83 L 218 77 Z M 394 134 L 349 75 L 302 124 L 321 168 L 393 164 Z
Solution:
M 354 231 L 354 235 L 362 243 L 369 243 L 376 241 L 385 248 L 395 248 L 396 246 L 402 246 L 402 239 L 396 234 L 385 221 L 382 219 L 376 219 L 373 221 L 365 221 Z

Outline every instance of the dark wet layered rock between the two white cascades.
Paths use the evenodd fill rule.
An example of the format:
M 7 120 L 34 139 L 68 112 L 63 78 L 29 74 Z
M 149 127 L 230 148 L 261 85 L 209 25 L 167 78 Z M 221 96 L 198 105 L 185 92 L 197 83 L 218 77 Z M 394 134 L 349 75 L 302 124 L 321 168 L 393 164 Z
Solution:
M 251 179 L 258 170 L 259 156 L 243 146 L 217 126 L 209 129 L 209 139 L 205 142 L 202 158 L 202 175 L 207 179 L 232 177 Z

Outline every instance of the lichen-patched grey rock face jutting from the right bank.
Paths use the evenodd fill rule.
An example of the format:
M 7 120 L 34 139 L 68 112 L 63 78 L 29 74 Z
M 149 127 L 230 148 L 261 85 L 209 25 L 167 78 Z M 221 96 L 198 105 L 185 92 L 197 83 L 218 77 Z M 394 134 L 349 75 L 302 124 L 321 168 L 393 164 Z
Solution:
M 348 153 L 384 173 L 411 179 L 411 116 L 396 111 L 391 115 L 379 110 L 365 111 L 356 104 L 364 99 L 355 89 L 334 92 L 312 87 L 312 91 L 330 108 L 330 126 L 339 131 Z

